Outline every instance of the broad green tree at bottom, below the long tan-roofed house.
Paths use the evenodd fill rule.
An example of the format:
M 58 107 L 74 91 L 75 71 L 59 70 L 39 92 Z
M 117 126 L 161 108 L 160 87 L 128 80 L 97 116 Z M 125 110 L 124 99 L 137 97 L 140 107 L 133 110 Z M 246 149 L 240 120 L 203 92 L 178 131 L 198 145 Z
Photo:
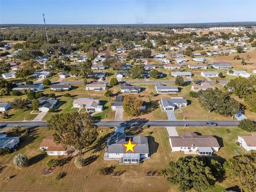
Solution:
M 213 174 L 218 170 L 218 174 Z M 180 191 L 205 191 L 214 186 L 217 175 L 222 174 L 221 165 L 214 159 L 181 157 L 178 161 L 170 162 L 167 180 L 179 185 Z

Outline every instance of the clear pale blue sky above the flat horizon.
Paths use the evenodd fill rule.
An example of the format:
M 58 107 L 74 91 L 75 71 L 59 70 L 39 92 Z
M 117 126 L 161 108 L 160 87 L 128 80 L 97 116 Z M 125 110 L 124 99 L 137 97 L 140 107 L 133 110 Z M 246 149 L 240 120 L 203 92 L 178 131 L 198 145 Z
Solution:
M 134 24 L 256 21 L 256 0 L 0 0 L 1 24 Z

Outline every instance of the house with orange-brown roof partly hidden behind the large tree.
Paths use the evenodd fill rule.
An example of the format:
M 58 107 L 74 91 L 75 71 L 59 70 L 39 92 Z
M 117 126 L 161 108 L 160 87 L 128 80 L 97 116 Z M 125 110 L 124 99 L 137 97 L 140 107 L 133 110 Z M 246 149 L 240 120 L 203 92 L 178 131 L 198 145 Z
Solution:
M 53 140 L 53 136 L 48 136 L 43 139 L 39 149 L 46 150 L 47 155 L 67 155 L 67 150 Z M 72 147 L 68 147 L 68 150 L 73 150 Z

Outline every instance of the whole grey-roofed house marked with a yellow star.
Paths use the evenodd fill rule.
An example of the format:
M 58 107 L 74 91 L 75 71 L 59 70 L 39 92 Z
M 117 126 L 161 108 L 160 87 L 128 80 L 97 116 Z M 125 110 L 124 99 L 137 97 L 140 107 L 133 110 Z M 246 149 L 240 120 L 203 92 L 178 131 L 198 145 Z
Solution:
M 132 151 L 127 151 L 125 153 L 126 147 L 122 144 L 127 144 L 131 138 L 133 144 L 137 144 Z M 120 163 L 123 164 L 138 164 L 142 159 L 149 158 L 149 147 L 148 147 L 148 138 L 142 136 L 131 136 L 126 135 L 122 132 L 114 132 L 110 135 L 107 140 L 107 151 L 104 158 L 114 160 L 117 159 Z

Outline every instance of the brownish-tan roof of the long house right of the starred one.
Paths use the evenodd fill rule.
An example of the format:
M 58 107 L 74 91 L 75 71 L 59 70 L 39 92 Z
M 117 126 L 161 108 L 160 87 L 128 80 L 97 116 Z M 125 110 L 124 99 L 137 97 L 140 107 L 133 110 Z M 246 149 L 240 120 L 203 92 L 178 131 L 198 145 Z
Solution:
M 216 138 L 211 135 L 184 133 L 182 136 L 171 136 L 172 147 L 220 147 Z

